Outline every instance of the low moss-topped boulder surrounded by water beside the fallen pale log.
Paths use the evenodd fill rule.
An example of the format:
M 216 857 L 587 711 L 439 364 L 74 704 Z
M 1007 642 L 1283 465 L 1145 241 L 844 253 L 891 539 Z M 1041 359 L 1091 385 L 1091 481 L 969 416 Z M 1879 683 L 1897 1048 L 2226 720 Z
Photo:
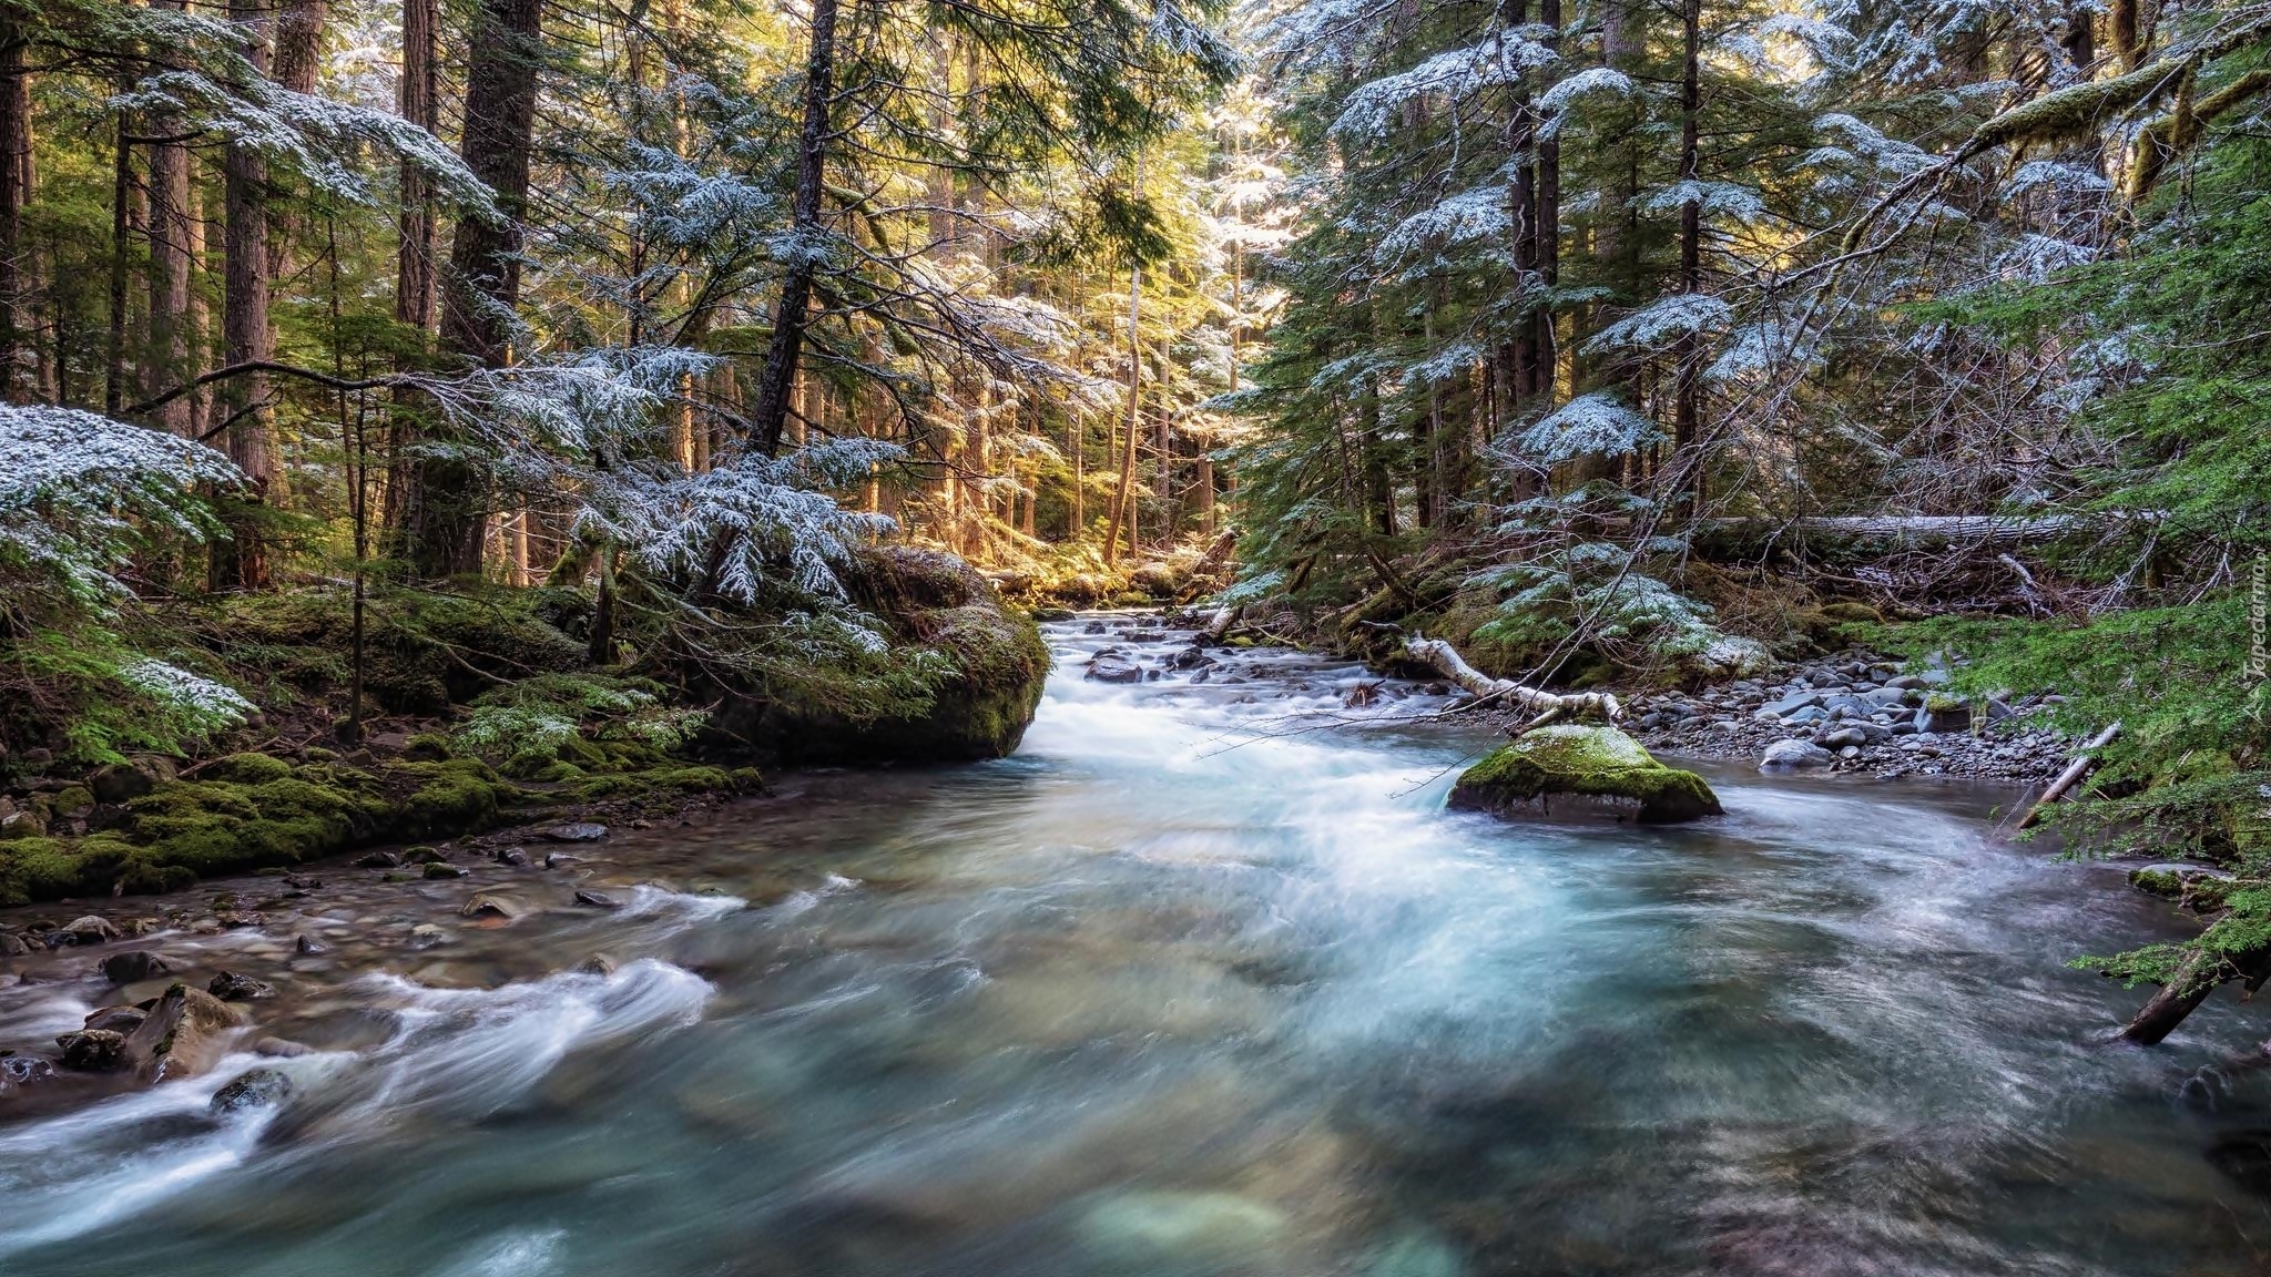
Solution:
M 1703 777 L 1658 763 L 1615 727 L 1562 723 L 1526 732 L 1451 786 L 1451 807 L 1497 816 L 1615 816 L 1669 825 L 1719 813 Z

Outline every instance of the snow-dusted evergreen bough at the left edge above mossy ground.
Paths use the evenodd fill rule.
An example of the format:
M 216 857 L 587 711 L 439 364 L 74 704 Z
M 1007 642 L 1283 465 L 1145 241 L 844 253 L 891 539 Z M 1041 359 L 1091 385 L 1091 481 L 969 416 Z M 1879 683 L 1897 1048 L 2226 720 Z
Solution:
M 198 484 L 243 475 L 202 443 L 77 409 L 0 404 L 0 586 L 104 604 L 148 532 L 200 541 Z

